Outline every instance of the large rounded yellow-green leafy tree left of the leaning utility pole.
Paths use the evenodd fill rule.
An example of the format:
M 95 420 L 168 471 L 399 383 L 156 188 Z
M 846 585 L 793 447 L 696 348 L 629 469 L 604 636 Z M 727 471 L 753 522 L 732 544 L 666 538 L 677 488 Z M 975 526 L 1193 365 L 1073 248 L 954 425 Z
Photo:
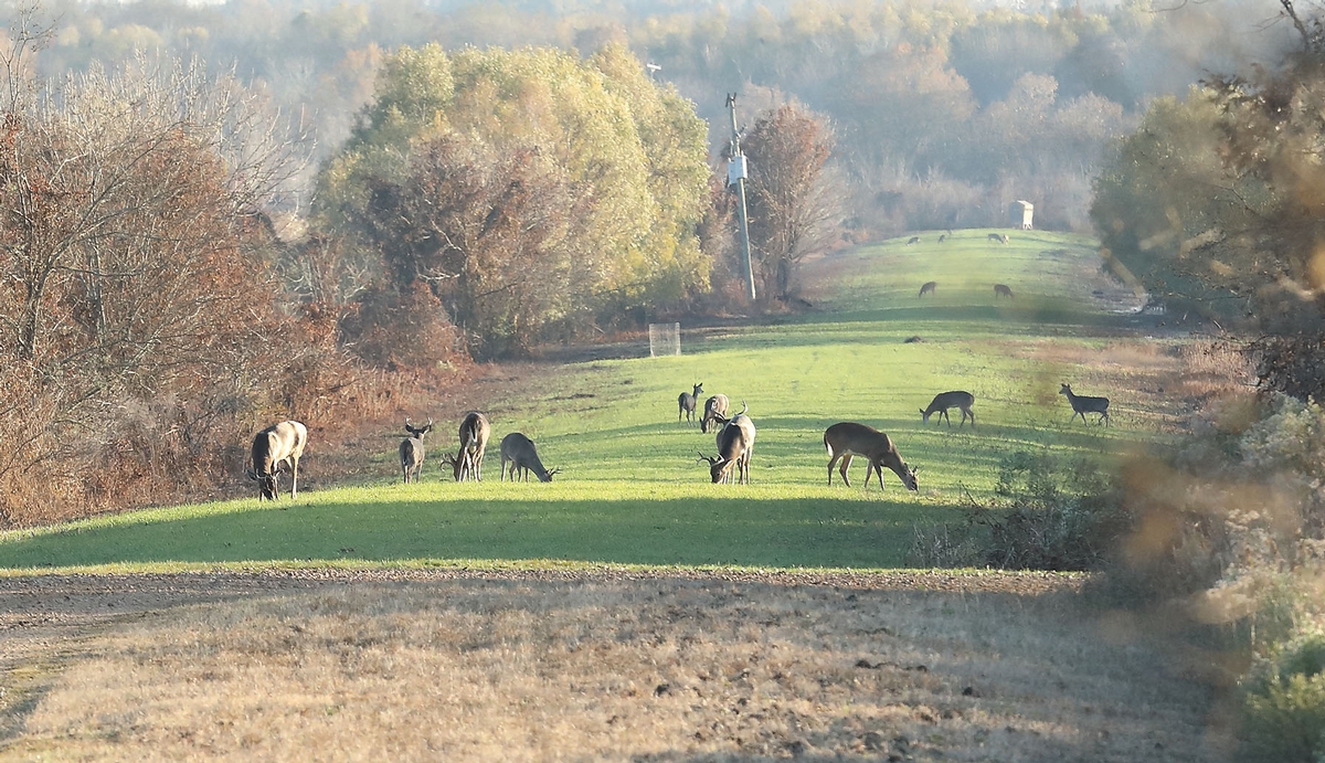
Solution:
M 541 332 L 708 286 L 709 258 L 694 233 L 705 159 L 693 105 L 653 83 L 623 48 L 587 61 L 553 49 L 448 56 L 436 45 L 405 48 L 388 58 L 376 98 L 322 174 L 321 225 L 379 253 L 383 276 L 401 293 L 412 280 L 428 280 L 477 351 L 521 351 Z M 478 172 L 476 163 L 497 174 Z M 473 191 L 457 192 L 444 211 L 425 209 L 427 196 L 401 196 L 449 188 L 450 174 L 457 188 Z M 533 216 L 530 230 L 538 233 L 506 234 L 496 225 L 460 236 L 458 228 L 435 227 L 454 245 L 432 250 L 424 260 L 436 260 L 420 269 L 412 238 L 382 233 L 388 209 L 411 209 L 411 220 L 441 215 L 448 225 L 533 225 Z M 498 293 L 521 293 L 498 273 L 510 268 L 556 274 L 539 285 L 537 299 L 517 301 L 537 309 L 498 307 Z

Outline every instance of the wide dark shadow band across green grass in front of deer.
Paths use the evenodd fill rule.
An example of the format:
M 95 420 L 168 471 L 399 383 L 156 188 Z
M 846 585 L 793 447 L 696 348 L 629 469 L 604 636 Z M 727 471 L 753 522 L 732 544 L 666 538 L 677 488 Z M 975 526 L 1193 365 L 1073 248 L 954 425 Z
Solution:
M 420 499 L 253 503 L 189 518 L 15 536 L 0 568 L 135 563 L 560 559 L 621 564 L 897 567 L 917 522 L 947 511 L 835 487 L 759 498 L 743 486 L 677 499 Z M 954 511 L 955 513 L 955 511 Z

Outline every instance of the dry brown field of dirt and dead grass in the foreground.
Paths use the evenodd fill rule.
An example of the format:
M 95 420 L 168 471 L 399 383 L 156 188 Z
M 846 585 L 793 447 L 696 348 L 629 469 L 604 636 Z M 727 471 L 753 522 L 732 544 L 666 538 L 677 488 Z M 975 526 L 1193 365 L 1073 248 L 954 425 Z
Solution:
M 0 759 L 1231 759 L 1218 693 L 1080 585 L 616 568 L 0 578 Z

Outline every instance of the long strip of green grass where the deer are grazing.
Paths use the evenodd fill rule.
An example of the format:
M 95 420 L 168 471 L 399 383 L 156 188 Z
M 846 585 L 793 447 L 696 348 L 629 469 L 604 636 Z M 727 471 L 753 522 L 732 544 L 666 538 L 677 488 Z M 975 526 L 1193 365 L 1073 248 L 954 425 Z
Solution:
M 1049 448 L 1109 457 L 1158 436 L 1151 411 L 1097 387 L 1128 379 L 1105 350 L 1129 339 L 1125 318 L 1092 295 L 1093 242 L 1026 232 L 1003 245 L 986 233 L 959 230 L 945 244 L 925 233 L 918 245 L 904 237 L 833 256 L 814 266 L 818 309 L 804 317 L 686 334 L 681 356 L 550 372 L 529 384 L 537 393 L 488 408 L 482 483 L 444 480 L 437 456 L 454 450 L 456 434 L 443 423 L 420 485 L 366 478 L 294 502 L 229 501 L 13 531 L 0 535 L 0 568 L 902 566 L 913 527 L 954 519 L 963 491 L 987 497 L 1004 456 Z M 917 298 L 930 280 L 935 293 Z M 995 301 L 995 282 L 1016 298 Z M 916 335 L 925 340 L 904 342 Z M 713 437 L 677 424 L 677 395 L 694 382 L 738 411 L 749 403 L 759 431 L 753 485 L 710 485 L 706 465 L 696 464 L 697 450 L 713 453 Z M 1114 397 L 1114 425 L 1069 424 L 1060 382 Z M 921 423 L 918 409 L 946 389 L 975 395 L 977 429 Z M 843 420 L 888 432 L 920 466 L 920 493 L 890 472 L 886 490 L 863 489 L 860 460 L 851 487 L 836 477 L 827 486 L 823 431 Z M 497 481 L 497 445 L 513 431 L 562 469 L 555 482 Z M 394 462 L 392 444 L 366 457 L 366 473 Z

